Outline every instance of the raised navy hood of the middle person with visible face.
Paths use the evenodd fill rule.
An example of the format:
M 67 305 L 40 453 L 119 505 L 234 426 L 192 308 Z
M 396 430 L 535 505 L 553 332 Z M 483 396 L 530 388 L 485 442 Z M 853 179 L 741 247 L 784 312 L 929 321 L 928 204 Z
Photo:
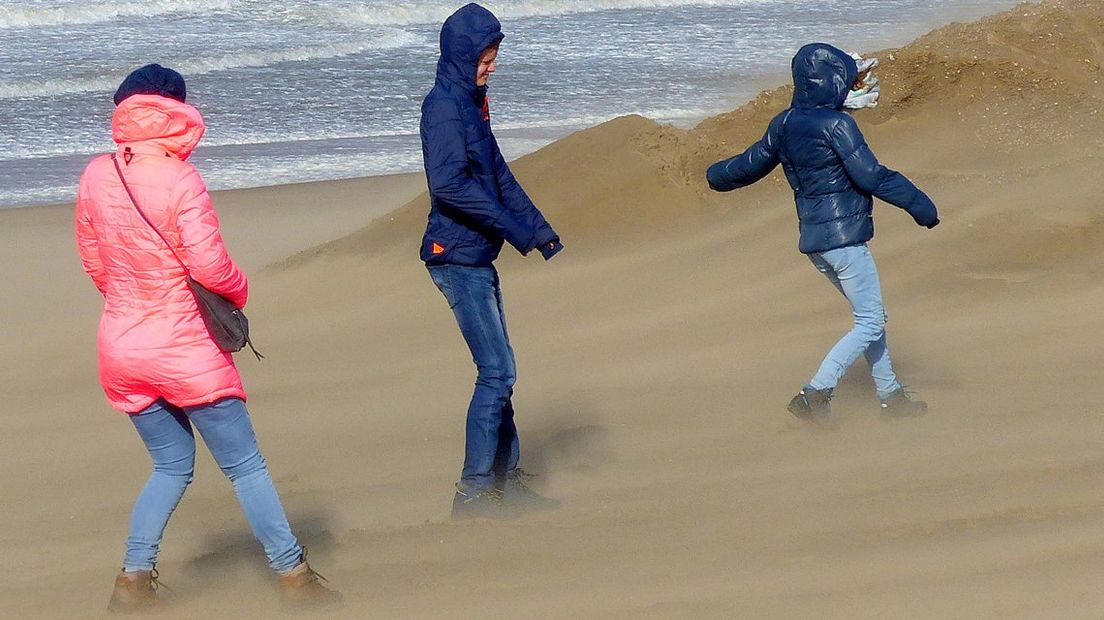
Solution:
M 460 7 L 440 28 L 440 58 L 437 79 L 446 81 L 477 96 L 476 68 L 484 50 L 503 39 L 502 24 L 487 9 L 471 2 Z

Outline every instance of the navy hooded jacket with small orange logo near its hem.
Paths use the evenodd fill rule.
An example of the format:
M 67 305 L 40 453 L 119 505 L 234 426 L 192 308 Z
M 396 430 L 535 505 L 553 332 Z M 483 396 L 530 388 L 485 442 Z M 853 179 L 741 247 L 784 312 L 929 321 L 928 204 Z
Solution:
M 440 30 L 437 81 L 422 103 L 422 156 L 429 183 L 427 265 L 490 266 L 509 242 L 521 254 L 558 239 L 502 159 L 476 86 L 479 55 L 502 40 L 498 19 L 470 3 Z

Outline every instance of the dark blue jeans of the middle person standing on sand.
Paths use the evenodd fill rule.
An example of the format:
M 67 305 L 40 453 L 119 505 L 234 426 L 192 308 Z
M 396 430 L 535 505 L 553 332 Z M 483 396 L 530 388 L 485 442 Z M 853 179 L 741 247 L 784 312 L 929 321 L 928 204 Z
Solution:
M 456 316 L 478 370 L 476 389 L 468 405 L 460 484 L 466 489 L 489 489 L 496 477 L 518 467 L 521 450 L 510 402 L 517 364 L 506 331 L 498 271 L 493 267 L 460 265 L 428 269 Z

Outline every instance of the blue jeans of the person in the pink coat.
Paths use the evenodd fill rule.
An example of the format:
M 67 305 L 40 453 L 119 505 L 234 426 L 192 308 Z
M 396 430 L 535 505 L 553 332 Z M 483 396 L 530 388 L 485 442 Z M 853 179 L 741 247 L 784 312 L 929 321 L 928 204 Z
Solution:
M 125 570 L 149 570 L 157 562 L 164 526 L 192 481 L 195 466 L 192 425 L 234 485 L 245 519 L 265 547 L 268 565 L 277 573 L 286 573 L 299 564 L 302 549 L 291 534 L 276 487 L 268 475 L 268 466 L 257 447 L 245 403 L 240 398 L 224 398 L 209 405 L 180 408 L 158 400 L 130 419 L 153 459 L 153 473 L 130 515 Z

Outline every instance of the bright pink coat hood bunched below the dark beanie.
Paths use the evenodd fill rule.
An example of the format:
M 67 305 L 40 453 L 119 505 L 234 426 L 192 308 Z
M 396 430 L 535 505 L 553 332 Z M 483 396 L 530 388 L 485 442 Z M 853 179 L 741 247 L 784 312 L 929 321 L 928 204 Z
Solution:
M 138 152 L 160 150 L 185 160 L 206 131 L 195 107 L 158 95 L 131 95 L 115 108 L 112 137 Z

